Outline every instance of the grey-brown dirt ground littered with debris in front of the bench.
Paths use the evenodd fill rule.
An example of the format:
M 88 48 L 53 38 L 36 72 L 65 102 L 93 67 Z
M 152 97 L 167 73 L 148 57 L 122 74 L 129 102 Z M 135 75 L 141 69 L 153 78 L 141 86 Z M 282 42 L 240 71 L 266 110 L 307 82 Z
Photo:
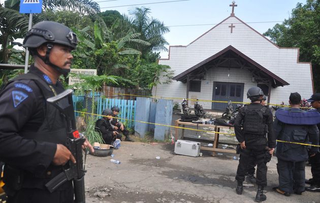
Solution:
M 111 157 L 87 155 L 86 202 L 253 202 L 257 186 L 246 184 L 242 195 L 235 192 L 238 160 L 234 154 L 215 157 L 202 151 L 202 157 L 175 155 L 168 143 L 122 142 Z M 160 158 L 157 159 L 156 157 Z M 276 157 L 268 163 L 265 202 L 320 202 L 319 193 L 304 192 L 286 197 L 272 191 L 277 186 Z M 311 178 L 310 166 L 306 178 Z

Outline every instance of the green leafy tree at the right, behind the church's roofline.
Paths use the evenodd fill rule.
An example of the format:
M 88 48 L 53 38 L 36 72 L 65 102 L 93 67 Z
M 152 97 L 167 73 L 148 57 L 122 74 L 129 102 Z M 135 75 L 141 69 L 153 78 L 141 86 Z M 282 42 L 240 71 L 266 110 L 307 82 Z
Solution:
M 300 48 L 300 61 L 312 63 L 315 89 L 320 91 L 320 1 L 298 3 L 291 17 L 264 33 L 280 47 Z

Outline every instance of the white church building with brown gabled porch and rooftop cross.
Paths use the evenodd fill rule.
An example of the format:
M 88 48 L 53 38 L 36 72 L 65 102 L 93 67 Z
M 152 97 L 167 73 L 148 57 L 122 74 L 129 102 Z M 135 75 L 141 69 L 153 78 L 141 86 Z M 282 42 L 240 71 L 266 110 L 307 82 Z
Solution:
M 230 6 L 231 15 L 195 41 L 169 47 L 169 58 L 159 59 L 159 64 L 171 67 L 173 82 L 154 87 L 153 96 L 249 102 L 247 90 L 258 86 L 271 104 L 288 104 L 291 92 L 310 97 L 312 67 L 309 62 L 299 62 L 299 49 L 272 43 L 235 16 L 235 2 Z M 227 106 L 200 104 L 214 110 Z

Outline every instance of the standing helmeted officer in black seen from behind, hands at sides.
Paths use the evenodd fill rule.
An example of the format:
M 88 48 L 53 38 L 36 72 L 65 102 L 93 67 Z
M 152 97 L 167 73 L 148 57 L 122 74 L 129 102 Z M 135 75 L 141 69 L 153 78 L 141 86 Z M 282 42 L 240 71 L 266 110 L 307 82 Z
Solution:
M 276 142 L 273 133 L 273 117 L 270 109 L 261 105 L 264 93 L 259 87 L 251 87 L 247 97 L 251 100 L 249 105 L 242 107 L 235 120 L 235 133 L 240 143 L 240 159 L 237 170 L 237 194 L 243 192 L 245 173 L 250 167 L 248 163 L 257 163 L 258 191 L 255 201 L 267 199 L 263 189 L 267 186 L 267 162 L 270 161 Z M 268 132 L 268 140 L 266 133 Z

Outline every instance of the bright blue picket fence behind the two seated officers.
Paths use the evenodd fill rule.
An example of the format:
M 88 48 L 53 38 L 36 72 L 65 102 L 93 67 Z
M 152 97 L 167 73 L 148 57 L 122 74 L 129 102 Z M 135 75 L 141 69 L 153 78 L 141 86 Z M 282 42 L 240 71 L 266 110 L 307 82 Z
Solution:
M 73 104 L 74 110 L 80 111 L 77 109 L 77 102 L 81 101 L 82 104 L 85 103 L 84 96 L 73 96 Z M 91 98 L 89 98 L 91 99 Z M 136 101 L 135 100 L 125 100 L 125 99 L 113 99 L 113 98 L 102 98 L 101 96 L 97 96 L 94 99 L 97 102 L 97 111 L 96 113 L 101 115 L 102 111 L 106 108 L 111 109 L 113 106 L 117 106 L 120 108 L 120 113 L 118 115 L 119 119 L 122 123 L 125 123 L 127 127 L 133 127 L 135 122 L 135 110 L 136 110 Z M 80 113 L 75 112 L 76 116 L 79 116 Z M 129 120 L 125 120 L 129 119 Z

